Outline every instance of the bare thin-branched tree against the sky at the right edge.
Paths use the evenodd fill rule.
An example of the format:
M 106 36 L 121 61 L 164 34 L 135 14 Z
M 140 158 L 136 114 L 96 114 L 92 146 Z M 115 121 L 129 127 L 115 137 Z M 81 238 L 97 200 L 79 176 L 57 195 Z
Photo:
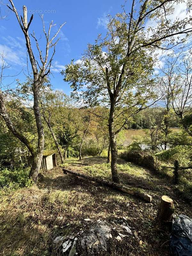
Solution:
M 162 69 L 164 81 L 164 97 L 166 108 L 172 107 L 180 117 L 183 128 L 192 136 L 186 118 L 192 107 L 192 49 L 183 46 L 179 53 L 172 53 L 166 58 Z

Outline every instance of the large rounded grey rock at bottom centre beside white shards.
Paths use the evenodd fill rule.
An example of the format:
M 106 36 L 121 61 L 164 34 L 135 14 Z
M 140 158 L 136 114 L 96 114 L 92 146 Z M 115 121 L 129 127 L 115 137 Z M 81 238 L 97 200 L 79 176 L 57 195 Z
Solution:
M 78 251 L 84 252 L 84 254 L 89 256 L 105 254 L 108 249 L 110 234 L 111 226 L 109 224 L 104 221 L 94 223 L 78 239 Z

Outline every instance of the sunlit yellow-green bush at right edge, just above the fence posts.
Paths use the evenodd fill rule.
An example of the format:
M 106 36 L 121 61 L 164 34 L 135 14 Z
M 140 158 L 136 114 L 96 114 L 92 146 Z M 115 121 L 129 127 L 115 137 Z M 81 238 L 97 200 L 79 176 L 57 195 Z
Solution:
M 191 146 L 176 146 L 168 150 L 163 150 L 156 154 L 158 159 L 173 164 L 175 160 L 179 161 L 182 166 L 188 166 L 192 160 L 192 147 Z

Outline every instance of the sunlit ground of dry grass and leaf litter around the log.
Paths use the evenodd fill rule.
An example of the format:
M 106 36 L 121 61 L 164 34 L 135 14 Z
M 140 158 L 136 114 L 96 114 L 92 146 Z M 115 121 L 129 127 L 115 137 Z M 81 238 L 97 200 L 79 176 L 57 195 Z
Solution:
M 64 166 L 110 180 L 110 164 L 104 157 L 66 160 Z M 170 233 L 156 226 L 162 195 L 174 200 L 175 214 L 192 217 L 192 207 L 177 194 L 172 180 L 137 165 L 118 160 L 121 183 L 132 183 L 153 196 L 151 203 L 116 190 L 63 174 L 60 167 L 39 174 L 37 185 L 2 192 L 0 197 L 0 255 L 63 255 L 53 244 L 92 225 L 93 221 L 126 218 L 132 235 L 117 241 L 106 255 L 168 255 Z M 130 185 L 127 185 L 130 186 Z M 91 221 L 87 221 L 90 219 Z M 133 234 L 137 233 L 138 238 Z

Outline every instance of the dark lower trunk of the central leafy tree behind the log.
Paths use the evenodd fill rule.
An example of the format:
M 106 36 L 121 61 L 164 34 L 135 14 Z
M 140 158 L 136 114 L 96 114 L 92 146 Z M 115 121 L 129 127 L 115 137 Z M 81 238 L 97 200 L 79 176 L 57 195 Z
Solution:
M 111 148 L 111 175 L 113 182 L 119 183 L 117 171 L 117 150 L 116 150 L 116 134 L 114 131 L 114 114 L 115 114 L 115 101 L 111 101 L 109 112 L 109 143 Z

